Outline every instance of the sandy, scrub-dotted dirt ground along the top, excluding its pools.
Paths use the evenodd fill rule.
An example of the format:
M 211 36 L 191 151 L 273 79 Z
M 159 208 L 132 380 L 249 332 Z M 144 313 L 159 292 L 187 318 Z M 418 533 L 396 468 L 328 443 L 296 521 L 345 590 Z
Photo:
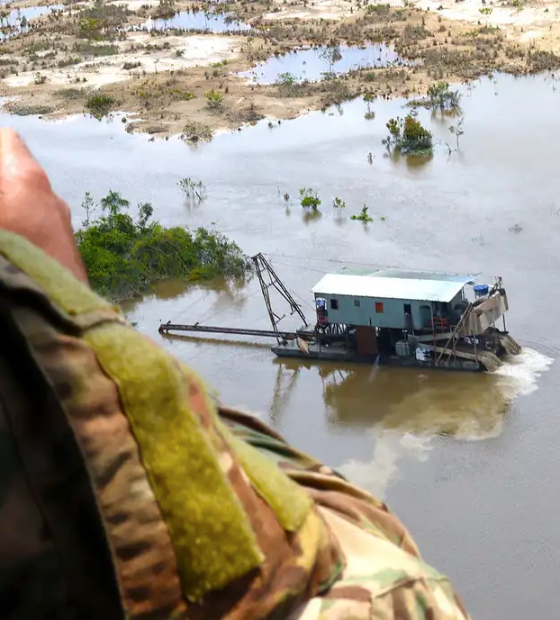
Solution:
M 20 0 L 4 5 L 4 17 L 17 24 L 8 11 L 48 5 Z M 238 0 L 224 8 L 250 30 L 153 28 L 159 16 L 218 12 L 220 6 L 96 0 L 30 18 L 21 32 L 4 26 L 0 96 L 9 97 L 5 107 L 15 114 L 124 112 L 128 131 L 197 141 L 219 129 L 293 118 L 360 94 L 373 100 L 417 97 L 435 81 L 560 66 L 560 21 L 550 0 Z M 405 63 L 329 74 L 317 82 L 284 76 L 280 83 L 258 85 L 237 75 L 302 45 L 368 42 L 385 43 Z

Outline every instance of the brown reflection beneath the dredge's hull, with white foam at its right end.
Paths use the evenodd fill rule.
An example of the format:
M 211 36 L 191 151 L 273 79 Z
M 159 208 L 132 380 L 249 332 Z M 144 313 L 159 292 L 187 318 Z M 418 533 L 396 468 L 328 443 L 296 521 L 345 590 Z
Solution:
M 551 363 L 551 358 L 531 349 L 496 373 L 390 367 L 372 373 L 364 365 L 276 360 L 279 375 L 296 377 L 301 367 L 317 373 L 333 426 L 460 440 L 497 437 L 508 404 L 518 394 L 536 389 L 538 376 Z

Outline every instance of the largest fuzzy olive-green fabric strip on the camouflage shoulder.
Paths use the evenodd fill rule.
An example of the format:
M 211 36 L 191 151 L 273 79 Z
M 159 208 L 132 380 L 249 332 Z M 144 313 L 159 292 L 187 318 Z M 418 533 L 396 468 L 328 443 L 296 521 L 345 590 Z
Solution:
M 190 410 L 188 384 L 173 359 L 119 324 L 93 328 L 84 340 L 119 387 L 171 533 L 185 596 L 198 600 L 258 567 L 264 556 L 249 519 Z

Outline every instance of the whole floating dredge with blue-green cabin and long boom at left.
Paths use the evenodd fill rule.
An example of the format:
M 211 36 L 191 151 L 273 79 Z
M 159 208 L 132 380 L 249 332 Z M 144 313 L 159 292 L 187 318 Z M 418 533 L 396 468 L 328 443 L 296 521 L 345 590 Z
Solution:
M 509 309 L 502 278 L 492 286 L 474 276 L 380 270 L 330 273 L 312 289 L 310 325 L 262 254 L 252 258 L 270 317 L 270 330 L 162 323 L 160 334 L 200 332 L 275 338 L 279 357 L 493 371 L 521 347 L 506 330 Z M 280 331 L 269 290 L 276 289 L 303 325 Z M 496 327 L 501 319 L 503 329 Z

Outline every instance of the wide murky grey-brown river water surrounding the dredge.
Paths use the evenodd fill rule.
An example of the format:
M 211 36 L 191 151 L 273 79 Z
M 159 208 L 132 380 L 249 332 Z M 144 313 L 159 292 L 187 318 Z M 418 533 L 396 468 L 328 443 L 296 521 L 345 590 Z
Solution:
M 268 327 L 256 281 L 189 289 L 171 282 L 126 309 L 224 401 L 258 413 L 388 502 L 473 618 L 552 619 L 560 565 L 560 91 L 544 76 L 485 79 L 463 92 L 459 152 L 449 155 L 443 144 L 454 146 L 448 127 L 457 119 L 421 111 L 440 141 L 422 165 L 384 156 L 385 123 L 404 112 L 402 101 L 374 102 L 373 120 L 357 100 L 197 148 L 150 143 L 118 120 L 3 120 L 29 141 L 75 225 L 87 190 L 152 201 L 166 225 L 215 226 L 247 253 L 263 252 L 310 318 L 311 287 L 346 262 L 501 275 L 508 328 L 525 350 L 494 375 L 278 363 L 270 343 L 158 335 L 168 320 Z M 185 203 L 182 177 L 206 184 L 203 203 Z M 303 217 L 301 187 L 319 191 L 322 217 Z M 374 221 L 364 227 L 337 216 L 335 196 L 347 215 L 366 203 Z

